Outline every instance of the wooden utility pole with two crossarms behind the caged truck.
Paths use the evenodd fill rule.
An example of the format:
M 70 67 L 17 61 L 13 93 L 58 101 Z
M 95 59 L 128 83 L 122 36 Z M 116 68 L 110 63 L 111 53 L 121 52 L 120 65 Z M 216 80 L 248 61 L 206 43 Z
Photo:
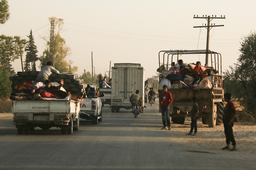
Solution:
M 207 25 L 202 24 L 202 26 L 194 26 L 193 28 L 206 28 L 207 29 L 206 51 L 208 51 L 209 50 L 210 29 L 212 27 L 223 27 L 224 26 L 224 25 L 215 25 L 215 24 L 210 25 L 210 21 L 212 21 L 212 19 L 226 19 L 225 15 L 224 15 L 224 17 L 222 17 L 222 15 L 220 17 L 216 17 L 216 15 L 215 16 L 212 15 L 212 17 L 210 17 L 209 15 L 208 16 L 203 15 L 203 17 L 198 17 L 198 15 L 197 16 L 194 15 L 194 18 L 203 18 L 203 19 L 207 20 Z M 205 65 L 206 64 L 208 65 L 208 53 L 206 53 L 206 56 L 205 56 Z

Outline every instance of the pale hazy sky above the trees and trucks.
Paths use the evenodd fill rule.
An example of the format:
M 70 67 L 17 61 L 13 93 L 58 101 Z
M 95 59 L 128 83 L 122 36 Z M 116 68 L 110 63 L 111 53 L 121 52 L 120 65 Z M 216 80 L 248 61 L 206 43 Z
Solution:
M 239 57 L 241 38 L 256 28 L 256 0 L 8 0 L 8 4 L 10 19 L 0 25 L 0 34 L 28 39 L 32 29 L 38 56 L 45 48 L 41 37 L 49 34 L 48 18 L 64 20 L 61 36 L 71 49 L 67 59 L 78 67 L 78 75 L 84 69 L 91 72 L 91 52 L 96 74 L 109 71 L 110 61 L 111 67 L 140 63 L 146 79 L 156 75 L 161 50 L 205 50 L 207 30 L 193 26 L 207 21 L 194 19 L 194 14 L 225 15 L 226 19 L 211 21 L 224 26 L 211 29 L 209 50 L 221 53 L 222 70 L 229 70 Z M 205 58 L 200 61 L 205 63 Z M 16 72 L 22 71 L 20 59 L 12 64 Z

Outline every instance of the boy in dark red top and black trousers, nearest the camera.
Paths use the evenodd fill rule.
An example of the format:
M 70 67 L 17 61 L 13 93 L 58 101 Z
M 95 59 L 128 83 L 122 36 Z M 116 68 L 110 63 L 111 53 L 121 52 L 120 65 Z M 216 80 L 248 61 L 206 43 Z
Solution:
M 229 149 L 230 151 L 237 150 L 236 141 L 233 134 L 234 126 L 234 115 L 236 114 L 234 103 L 231 101 L 231 94 L 224 94 L 224 101 L 227 102 L 227 105 L 224 108 L 223 114 L 223 124 L 224 124 L 224 133 L 226 136 L 227 146 L 222 148 L 222 150 Z M 232 142 L 233 148 L 230 148 L 230 142 Z

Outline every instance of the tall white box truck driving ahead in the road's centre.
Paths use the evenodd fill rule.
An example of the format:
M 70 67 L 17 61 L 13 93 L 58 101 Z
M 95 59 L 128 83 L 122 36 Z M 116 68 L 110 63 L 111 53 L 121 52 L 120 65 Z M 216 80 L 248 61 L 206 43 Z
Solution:
M 112 67 L 111 112 L 132 109 L 129 97 L 139 90 L 144 108 L 144 68 L 141 64 L 115 63 Z

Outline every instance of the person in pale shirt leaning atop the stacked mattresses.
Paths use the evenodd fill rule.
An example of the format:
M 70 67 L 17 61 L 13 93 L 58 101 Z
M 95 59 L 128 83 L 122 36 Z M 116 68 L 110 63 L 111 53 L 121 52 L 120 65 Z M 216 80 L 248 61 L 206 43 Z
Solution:
M 46 66 L 37 74 L 36 82 L 45 82 L 49 79 L 52 73 L 59 74 L 59 71 L 52 67 L 53 64 L 51 61 L 48 61 Z

